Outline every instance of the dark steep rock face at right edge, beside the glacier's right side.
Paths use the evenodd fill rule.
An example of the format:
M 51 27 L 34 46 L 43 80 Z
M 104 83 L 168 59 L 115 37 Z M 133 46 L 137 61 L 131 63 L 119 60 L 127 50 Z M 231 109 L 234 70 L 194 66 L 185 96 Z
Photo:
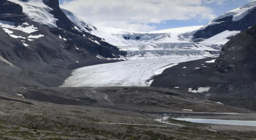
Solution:
M 227 42 L 215 61 L 215 70 L 233 72 L 251 79 L 256 72 L 256 26 Z

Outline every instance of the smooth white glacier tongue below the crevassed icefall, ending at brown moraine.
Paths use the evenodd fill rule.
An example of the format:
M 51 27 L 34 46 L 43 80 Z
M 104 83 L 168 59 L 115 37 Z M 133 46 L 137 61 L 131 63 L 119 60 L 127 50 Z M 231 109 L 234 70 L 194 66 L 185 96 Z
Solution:
M 203 57 L 178 57 L 128 60 L 117 63 L 100 64 L 79 68 L 66 79 L 61 87 L 110 87 L 110 86 L 149 86 L 155 74 L 185 61 Z M 147 82 L 148 81 L 148 82 Z

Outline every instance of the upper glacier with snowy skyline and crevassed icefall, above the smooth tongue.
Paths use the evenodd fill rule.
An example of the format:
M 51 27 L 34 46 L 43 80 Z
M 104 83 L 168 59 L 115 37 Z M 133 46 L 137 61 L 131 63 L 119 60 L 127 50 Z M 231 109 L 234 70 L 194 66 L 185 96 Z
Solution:
M 224 41 L 217 43 L 214 41 L 209 43 L 192 42 L 192 34 L 202 26 L 173 28 L 154 32 L 134 32 L 97 25 L 71 11 L 65 9 L 62 9 L 62 11 L 74 23 L 76 30 L 96 35 L 119 49 L 127 51 L 127 59 L 188 56 L 190 53 L 194 56 L 216 57 L 223 42 L 228 41 L 224 37 Z

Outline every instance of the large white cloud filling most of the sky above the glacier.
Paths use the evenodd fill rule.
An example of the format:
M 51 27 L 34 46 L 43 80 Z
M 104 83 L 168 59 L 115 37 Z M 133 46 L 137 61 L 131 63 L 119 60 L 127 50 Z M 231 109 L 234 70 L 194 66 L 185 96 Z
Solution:
M 155 29 L 148 23 L 214 19 L 214 10 L 205 5 L 221 5 L 224 1 L 227 0 L 73 0 L 60 6 L 94 23 L 147 32 Z

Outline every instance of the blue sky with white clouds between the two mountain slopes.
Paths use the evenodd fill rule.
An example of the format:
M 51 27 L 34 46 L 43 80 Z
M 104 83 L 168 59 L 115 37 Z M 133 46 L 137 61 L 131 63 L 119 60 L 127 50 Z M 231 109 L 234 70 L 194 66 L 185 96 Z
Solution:
M 181 19 L 179 19 L 179 17 L 173 16 L 173 15 L 179 14 L 180 12 L 175 13 L 175 11 L 170 11 L 170 13 L 166 13 L 165 11 L 168 11 L 168 10 L 165 10 L 165 11 L 163 10 L 162 11 L 163 13 L 159 14 L 159 11 L 161 11 L 162 9 L 158 9 L 155 11 L 155 13 L 158 13 L 159 15 L 154 15 L 154 16 L 156 16 L 155 18 L 153 18 L 153 17 L 150 18 L 150 15 L 146 15 L 147 11 L 143 7 L 141 7 L 141 9 L 140 9 L 140 7 L 136 8 L 135 10 L 131 9 L 130 11 L 129 10 L 125 11 L 124 9 L 126 9 L 126 7 L 124 7 L 124 5 L 122 5 L 123 9 L 121 6 L 120 6 L 120 8 L 118 8 L 118 6 L 113 6 L 113 7 L 109 8 L 110 4 L 111 4 L 111 0 L 90 0 L 90 1 L 94 1 L 94 2 L 90 2 L 88 0 L 59 0 L 59 1 L 60 1 L 61 5 L 63 4 L 62 8 L 70 10 L 70 11 L 72 11 L 72 12 L 74 12 L 74 13 L 82 16 L 83 18 L 90 20 L 94 23 L 102 24 L 104 26 L 111 26 L 111 27 L 115 27 L 115 28 L 126 28 L 129 30 L 136 30 L 136 31 L 144 32 L 144 31 L 151 31 L 151 30 L 178 28 L 178 27 L 184 27 L 184 26 L 204 25 L 204 24 L 208 23 L 208 21 L 210 21 L 210 19 L 212 19 L 216 16 L 219 16 L 219 15 L 225 13 L 226 11 L 229 11 L 229 10 L 238 8 L 242 5 L 245 5 L 252 0 L 191 0 L 191 1 L 195 1 L 195 3 L 192 3 L 191 1 L 188 1 L 188 0 L 180 0 L 180 1 L 184 1 L 184 3 L 186 3 L 185 1 L 188 1 L 187 3 L 192 3 L 192 4 L 182 5 L 179 3 L 180 1 L 175 2 L 175 3 L 179 3 L 178 5 L 182 5 L 181 8 L 186 8 L 186 6 L 187 6 L 187 8 L 189 8 L 189 6 L 199 6 L 200 8 L 207 7 L 208 9 L 211 9 L 208 11 L 206 9 L 204 9 L 204 10 L 201 9 L 202 13 L 204 13 L 202 15 L 200 15 L 200 12 L 199 13 L 195 12 L 193 15 L 187 17 L 184 15 L 189 14 L 189 13 L 185 13 L 184 15 L 181 15 L 181 17 L 184 16 Z M 97 3 L 97 1 L 99 3 Z M 106 1 L 109 1 L 109 3 L 107 3 Z M 116 1 L 115 2 L 115 4 L 116 4 L 122 0 L 113 0 L 113 2 L 114 1 Z M 130 1 L 132 3 L 132 0 L 130 0 Z M 157 0 L 153 0 L 153 1 L 157 1 Z M 164 4 L 163 1 L 164 0 L 159 0 L 159 3 L 162 2 Z M 171 0 L 165 0 L 165 1 L 171 1 Z M 172 1 L 177 1 L 177 0 L 172 0 Z M 198 1 L 198 3 L 200 3 L 200 4 L 196 3 L 196 1 Z M 207 1 L 207 3 L 205 1 Z M 217 2 L 215 2 L 215 1 L 217 1 Z M 105 3 L 105 4 L 101 5 L 101 7 L 96 6 L 101 3 Z M 87 7 L 87 4 L 90 6 Z M 84 7 L 81 7 L 81 5 L 84 5 Z M 95 7 L 93 7 L 94 5 L 95 5 Z M 107 6 L 103 7 L 104 5 L 107 5 Z M 125 3 L 125 6 L 126 5 L 130 5 L 130 3 Z M 136 4 L 131 5 L 131 6 L 135 7 Z M 142 4 L 142 6 L 143 6 L 143 4 Z M 100 11 L 100 10 L 94 11 L 94 9 L 97 9 L 99 7 L 100 7 L 100 9 L 102 9 L 102 11 Z M 92 8 L 92 9 L 90 9 L 90 8 Z M 127 6 L 127 9 L 129 9 L 129 8 L 131 8 L 131 7 Z M 86 11 L 85 9 L 88 9 L 88 11 Z M 115 10 L 116 10 L 116 12 L 115 12 Z M 122 10 L 125 12 L 122 12 Z M 195 8 L 194 11 L 196 11 L 196 10 L 197 9 Z M 135 12 L 137 12 L 137 14 L 136 13 L 133 14 L 133 12 L 131 12 L 131 11 L 135 11 Z M 185 10 L 183 9 L 182 11 L 185 11 Z M 89 13 L 89 14 L 85 14 L 85 13 Z M 119 14 L 116 14 L 116 13 L 119 13 Z M 130 13 L 130 14 L 127 14 L 127 13 Z M 140 13 L 143 13 L 144 15 L 141 14 L 141 16 L 138 16 L 138 15 L 140 15 Z M 148 13 L 150 13 L 150 11 L 148 11 Z M 168 14 L 169 14 L 171 20 L 168 20 Z M 161 15 L 163 15 L 163 18 L 161 17 Z M 196 17 L 199 17 L 199 18 L 195 18 L 194 15 L 196 15 Z M 106 16 L 108 18 L 106 18 Z M 120 16 L 122 18 L 120 18 L 118 16 Z M 126 16 L 127 16 L 127 18 L 126 18 Z M 138 18 L 138 20 L 135 20 L 136 18 Z

